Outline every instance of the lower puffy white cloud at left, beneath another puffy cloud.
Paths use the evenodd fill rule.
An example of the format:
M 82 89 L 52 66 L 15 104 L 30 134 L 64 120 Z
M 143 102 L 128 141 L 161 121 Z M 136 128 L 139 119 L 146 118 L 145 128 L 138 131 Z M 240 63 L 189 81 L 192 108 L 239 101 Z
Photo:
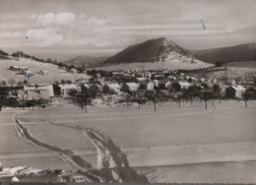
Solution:
M 29 43 L 34 46 L 50 46 L 63 41 L 63 35 L 58 33 L 58 29 L 31 29 L 26 32 Z

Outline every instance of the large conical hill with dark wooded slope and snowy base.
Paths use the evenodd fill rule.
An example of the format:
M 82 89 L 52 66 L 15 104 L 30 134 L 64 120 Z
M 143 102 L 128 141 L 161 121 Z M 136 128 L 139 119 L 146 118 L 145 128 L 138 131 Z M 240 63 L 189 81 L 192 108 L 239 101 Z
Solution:
M 196 59 L 187 49 L 164 37 L 131 45 L 107 58 L 103 65 L 100 69 L 176 70 L 212 66 Z

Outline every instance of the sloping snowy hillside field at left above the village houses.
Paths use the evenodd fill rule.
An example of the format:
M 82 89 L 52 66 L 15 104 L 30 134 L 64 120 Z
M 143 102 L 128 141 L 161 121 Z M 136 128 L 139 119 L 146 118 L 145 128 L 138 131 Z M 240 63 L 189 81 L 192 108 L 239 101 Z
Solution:
M 24 75 L 20 75 L 14 71 L 8 70 L 12 65 L 28 67 L 34 75 L 31 77 L 30 80 L 28 80 L 27 77 L 25 77 Z M 37 74 L 40 70 L 47 71 L 48 74 L 44 76 Z M 0 81 L 6 79 L 7 83 L 10 79 L 15 79 L 16 83 L 18 83 L 20 80 L 28 80 L 29 83 L 54 83 L 54 81 L 60 82 L 61 80 L 75 81 L 76 79 L 80 78 L 88 79 L 89 77 L 86 74 L 67 73 L 64 70 L 59 69 L 56 65 L 41 63 L 32 59 L 0 59 Z

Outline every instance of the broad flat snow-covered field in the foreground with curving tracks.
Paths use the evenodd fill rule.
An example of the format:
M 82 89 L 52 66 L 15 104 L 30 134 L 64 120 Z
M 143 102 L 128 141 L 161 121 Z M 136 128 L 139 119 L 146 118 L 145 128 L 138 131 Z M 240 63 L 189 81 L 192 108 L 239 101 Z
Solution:
M 54 102 L 45 109 L 6 109 L 0 112 L 0 161 L 2 166 L 76 168 L 60 159 L 65 150 L 67 158 L 76 155 L 97 168 L 97 144 L 108 149 L 111 140 L 150 182 L 256 183 L 256 102 L 245 107 L 243 101 L 216 101 L 204 107 L 199 101 L 181 102 L 180 108 L 161 102 L 157 112 L 145 104 L 88 107 L 86 113 Z M 36 142 L 17 135 L 14 114 Z

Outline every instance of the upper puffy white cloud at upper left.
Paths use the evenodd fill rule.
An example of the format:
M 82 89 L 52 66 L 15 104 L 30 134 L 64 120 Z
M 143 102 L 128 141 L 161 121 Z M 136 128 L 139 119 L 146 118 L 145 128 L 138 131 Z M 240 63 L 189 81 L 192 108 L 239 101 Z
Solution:
M 32 18 L 36 16 L 32 15 Z M 39 25 L 69 25 L 76 21 L 76 15 L 73 13 L 47 13 L 37 17 L 37 24 Z

